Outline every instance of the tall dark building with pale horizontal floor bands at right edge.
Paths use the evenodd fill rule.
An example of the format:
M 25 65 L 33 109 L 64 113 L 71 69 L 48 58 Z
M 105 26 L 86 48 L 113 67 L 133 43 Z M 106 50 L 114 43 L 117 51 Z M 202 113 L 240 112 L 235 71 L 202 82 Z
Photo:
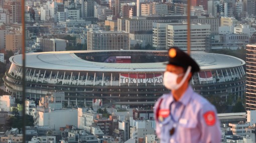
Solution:
M 246 45 L 246 110 L 256 110 L 256 44 Z

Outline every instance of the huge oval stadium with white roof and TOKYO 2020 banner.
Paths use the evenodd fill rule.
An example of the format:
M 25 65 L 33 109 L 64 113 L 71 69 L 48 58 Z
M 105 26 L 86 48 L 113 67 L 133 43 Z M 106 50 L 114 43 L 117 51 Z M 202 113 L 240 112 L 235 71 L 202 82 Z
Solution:
M 195 91 L 225 97 L 243 97 L 245 62 L 239 58 L 206 52 L 191 52 L 201 71 L 193 75 Z M 26 96 L 38 99 L 54 91 L 65 92 L 70 106 L 116 105 L 152 107 L 168 90 L 163 85 L 167 50 L 90 50 L 26 54 Z M 22 55 L 4 76 L 6 89 L 22 94 Z

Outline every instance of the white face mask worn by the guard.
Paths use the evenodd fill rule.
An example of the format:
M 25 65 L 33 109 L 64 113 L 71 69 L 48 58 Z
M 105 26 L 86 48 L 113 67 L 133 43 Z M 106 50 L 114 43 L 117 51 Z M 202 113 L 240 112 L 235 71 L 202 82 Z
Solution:
M 175 74 L 169 71 L 165 71 L 164 73 L 164 85 L 167 89 L 170 90 L 177 90 L 181 87 L 181 85 L 185 82 L 185 80 L 188 77 L 189 72 L 191 71 L 191 66 L 188 66 L 188 69 L 182 78 L 181 82 L 178 84 L 177 83 L 177 78 L 182 76 L 183 74 Z

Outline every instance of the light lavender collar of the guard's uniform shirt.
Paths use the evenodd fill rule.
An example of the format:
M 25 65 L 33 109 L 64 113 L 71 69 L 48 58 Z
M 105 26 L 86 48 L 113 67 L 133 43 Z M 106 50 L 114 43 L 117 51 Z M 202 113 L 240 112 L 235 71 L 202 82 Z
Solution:
M 184 94 L 181 96 L 181 98 L 178 100 L 178 102 L 181 102 L 182 104 L 187 105 L 193 92 L 194 91 L 193 91 L 191 85 L 188 85 L 188 88 L 186 89 Z M 170 103 L 175 102 L 172 93 L 171 93 L 171 96 L 169 97 L 169 102 Z

